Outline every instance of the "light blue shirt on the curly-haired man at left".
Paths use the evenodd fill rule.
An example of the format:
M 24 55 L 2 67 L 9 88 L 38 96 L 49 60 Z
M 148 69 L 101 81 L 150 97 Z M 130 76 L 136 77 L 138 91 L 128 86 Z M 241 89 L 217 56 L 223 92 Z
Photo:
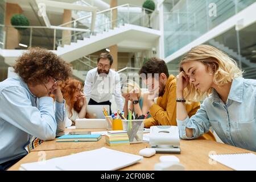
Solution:
M 64 104 L 51 97 L 34 96 L 20 77 L 0 82 L 0 164 L 27 154 L 30 136 L 55 138 L 65 129 Z

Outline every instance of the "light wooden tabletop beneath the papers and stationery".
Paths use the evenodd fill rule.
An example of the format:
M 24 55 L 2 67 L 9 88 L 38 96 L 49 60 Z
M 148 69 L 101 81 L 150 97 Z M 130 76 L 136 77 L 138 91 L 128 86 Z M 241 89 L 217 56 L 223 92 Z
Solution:
M 72 130 L 74 131 L 74 130 Z M 76 130 L 77 131 L 77 130 Z M 46 152 L 46 159 L 52 159 L 60 156 L 71 155 L 77 152 L 94 150 L 101 147 L 108 147 L 113 150 L 127 152 L 130 154 L 139 154 L 139 150 L 149 147 L 148 143 L 130 144 L 130 146 L 114 146 L 110 147 L 105 143 L 105 137 L 102 136 L 98 142 L 63 142 L 57 143 L 55 140 L 47 141 L 36 147 L 18 163 L 14 164 L 9 170 L 18 170 L 20 164 L 37 162 L 40 156 L 39 149 Z M 185 170 L 232 170 L 222 164 L 209 164 L 209 153 L 214 151 L 216 154 L 233 154 L 251 152 L 242 148 L 229 146 L 210 140 L 180 140 L 181 154 L 177 154 L 180 163 L 184 165 Z M 256 154 L 256 152 L 253 152 Z M 159 163 L 159 156 L 168 154 L 156 154 L 151 158 L 144 158 L 141 162 L 129 167 L 122 168 L 121 170 L 154 170 L 156 163 Z

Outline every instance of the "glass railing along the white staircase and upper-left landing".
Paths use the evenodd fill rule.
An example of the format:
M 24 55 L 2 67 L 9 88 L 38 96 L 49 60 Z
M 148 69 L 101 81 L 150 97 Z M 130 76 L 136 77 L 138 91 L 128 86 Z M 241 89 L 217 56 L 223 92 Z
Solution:
M 61 24 L 60 26 L 39 27 L 39 26 L 5 26 L 0 24 L 0 28 L 6 32 L 6 42 L 9 42 L 11 29 L 22 28 L 18 31 L 18 41 L 6 45 L 6 49 L 26 49 L 19 44 L 27 47 L 43 47 L 50 50 L 56 50 L 57 47 L 64 47 L 76 43 L 78 40 L 90 38 L 91 35 L 101 34 L 112 30 L 115 27 L 121 27 L 125 23 L 135 24 L 138 26 L 148 27 L 148 14 L 146 9 L 133 5 L 117 6 L 109 10 L 100 11 L 96 15 L 96 21 L 93 32 L 92 15 L 87 15 L 71 22 Z M 158 17 L 156 11 L 151 11 L 150 22 L 152 28 L 158 28 Z M 0 36 L 0 48 L 3 43 Z M 3 47 L 3 46 L 2 46 Z

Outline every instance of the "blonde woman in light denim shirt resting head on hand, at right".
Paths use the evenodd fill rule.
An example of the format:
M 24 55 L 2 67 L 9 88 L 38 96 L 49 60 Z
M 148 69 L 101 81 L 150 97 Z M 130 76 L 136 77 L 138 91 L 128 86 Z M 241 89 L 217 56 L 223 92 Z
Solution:
M 256 80 L 243 78 L 228 55 L 207 45 L 192 48 L 181 60 L 176 92 L 181 138 L 198 138 L 212 126 L 222 142 L 256 151 Z M 189 119 L 184 102 L 202 100 Z

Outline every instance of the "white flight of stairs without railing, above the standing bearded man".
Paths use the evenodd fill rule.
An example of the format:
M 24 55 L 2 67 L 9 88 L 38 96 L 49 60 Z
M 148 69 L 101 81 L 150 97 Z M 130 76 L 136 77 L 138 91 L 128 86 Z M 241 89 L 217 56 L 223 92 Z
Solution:
M 133 24 L 124 24 L 113 30 L 104 31 L 101 34 L 92 35 L 90 38 L 77 40 L 76 43 L 57 47 L 56 54 L 70 63 L 90 53 L 108 48 L 115 44 L 123 42 L 123 40 L 134 40 L 135 42 L 151 44 L 152 41 L 160 37 L 160 31 L 151 28 L 136 26 Z M 145 39 L 148 38 L 148 39 Z

